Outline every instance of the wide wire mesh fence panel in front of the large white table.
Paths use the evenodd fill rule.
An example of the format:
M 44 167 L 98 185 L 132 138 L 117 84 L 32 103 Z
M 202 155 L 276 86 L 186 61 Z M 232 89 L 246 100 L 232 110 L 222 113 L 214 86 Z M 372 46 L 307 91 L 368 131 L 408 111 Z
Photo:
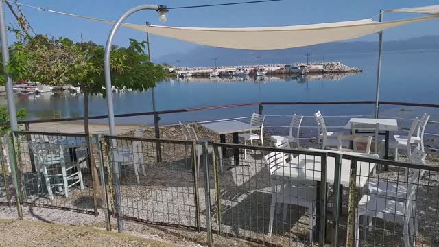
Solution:
M 278 246 L 324 242 L 326 153 L 224 143 L 213 150 L 214 230 Z

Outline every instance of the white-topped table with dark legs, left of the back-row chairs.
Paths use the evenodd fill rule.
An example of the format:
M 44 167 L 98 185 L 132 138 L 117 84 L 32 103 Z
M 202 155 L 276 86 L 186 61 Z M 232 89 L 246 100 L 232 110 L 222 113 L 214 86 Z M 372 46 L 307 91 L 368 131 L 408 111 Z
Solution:
M 239 143 L 238 133 L 249 132 L 252 130 L 259 130 L 257 126 L 251 126 L 250 124 L 243 123 L 241 121 L 219 121 L 215 123 L 202 124 L 204 128 L 219 134 L 219 140 L 222 143 L 226 142 L 226 134 L 233 134 L 233 143 Z M 222 156 L 225 157 L 226 150 L 222 149 Z M 239 149 L 235 148 L 235 165 L 239 165 Z

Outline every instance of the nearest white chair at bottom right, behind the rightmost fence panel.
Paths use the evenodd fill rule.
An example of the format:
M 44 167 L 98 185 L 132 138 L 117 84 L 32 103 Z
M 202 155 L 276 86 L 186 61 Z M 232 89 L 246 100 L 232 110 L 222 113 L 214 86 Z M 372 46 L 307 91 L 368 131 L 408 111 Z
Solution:
M 415 148 L 410 161 L 416 164 L 425 164 L 425 154 L 418 148 Z M 418 235 L 418 222 L 416 220 L 416 189 L 420 176 L 423 172 L 419 169 L 410 169 L 412 174 L 405 181 L 407 185 L 391 182 L 373 183 L 369 181 L 369 195 L 361 198 L 357 207 L 357 217 L 355 220 L 355 246 L 359 246 L 359 219 L 363 220 L 364 231 L 367 231 L 366 223 L 372 217 L 403 224 L 404 245 L 409 246 L 409 234 Z M 369 224 L 370 227 L 370 224 Z M 365 232 L 366 233 L 366 232 Z M 414 245 L 414 237 L 413 245 Z

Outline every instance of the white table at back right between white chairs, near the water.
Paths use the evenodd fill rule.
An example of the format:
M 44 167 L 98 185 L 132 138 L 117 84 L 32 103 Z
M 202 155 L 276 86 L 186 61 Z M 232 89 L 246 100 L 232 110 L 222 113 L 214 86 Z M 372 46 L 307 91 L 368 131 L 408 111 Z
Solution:
M 390 132 L 398 131 L 398 121 L 396 119 L 351 118 L 344 128 L 351 130 L 351 124 L 378 124 L 378 130 L 385 132 L 384 158 L 389 158 Z

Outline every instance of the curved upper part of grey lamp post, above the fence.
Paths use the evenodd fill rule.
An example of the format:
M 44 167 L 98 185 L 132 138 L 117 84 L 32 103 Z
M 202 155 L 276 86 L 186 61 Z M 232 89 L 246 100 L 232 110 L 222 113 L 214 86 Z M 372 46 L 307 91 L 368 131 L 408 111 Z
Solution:
M 137 7 L 128 10 L 119 17 L 116 23 L 112 26 L 110 34 L 108 34 L 107 43 L 105 46 L 105 55 L 104 55 L 104 75 L 105 75 L 105 90 L 107 93 L 107 106 L 108 106 L 108 124 L 110 125 L 110 134 L 115 134 L 115 111 L 112 105 L 112 90 L 111 90 L 111 74 L 110 74 L 110 54 L 111 54 L 111 46 L 112 40 L 115 37 L 117 30 L 125 21 L 128 16 L 138 12 L 140 10 L 155 10 L 158 12 L 164 11 L 166 12 L 166 6 L 163 5 L 140 5 Z

